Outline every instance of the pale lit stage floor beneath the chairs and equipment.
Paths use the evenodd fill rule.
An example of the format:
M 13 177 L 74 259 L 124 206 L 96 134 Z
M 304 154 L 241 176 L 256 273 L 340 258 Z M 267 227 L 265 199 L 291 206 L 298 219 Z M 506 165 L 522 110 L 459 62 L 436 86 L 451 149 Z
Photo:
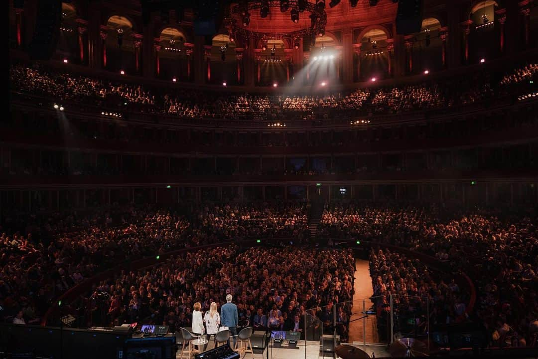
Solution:
M 381 357 L 390 357 L 390 354 L 387 351 L 386 345 L 379 345 L 379 344 L 366 344 L 366 348 L 361 343 L 359 344 L 347 344 L 351 345 L 353 347 L 356 347 L 358 349 L 366 351 L 366 353 L 372 357 L 372 353 L 375 355 L 376 358 Z M 209 346 L 207 349 L 213 348 L 213 341 L 209 342 Z M 315 341 L 308 341 L 306 342 L 306 352 L 305 352 L 305 341 L 301 340 L 298 343 L 298 346 L 296 348 L 287 348 L 287 347 L 269 347 L 263 351 L 263 353 L 254 353 L 254 355 L 250 353 L 246 353 L 243 355 L 240 359 L 265 359 L 267 358 L 267 350 L 269 357 L 268 359 L 322 359 L 323 355 L 320 354 L 320 343 Z M 178 353 L 176 354 L 176 358 L 180 358 L 180 352 L 181 347 L 178 350 Z M 325 358 L 329 359 L 332 357 L 331 353 L 325 353 Z M 336 356 L 338 358 L 338 356 Z M 183 358 L 187 358 L 186 355 L 183 356 Z

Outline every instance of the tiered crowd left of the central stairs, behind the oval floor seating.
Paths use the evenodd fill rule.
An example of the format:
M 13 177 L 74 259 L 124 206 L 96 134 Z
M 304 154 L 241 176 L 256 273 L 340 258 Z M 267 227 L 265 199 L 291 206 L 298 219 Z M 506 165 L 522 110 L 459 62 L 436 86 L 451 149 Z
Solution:
M 205 206 L 192 218 L 125 207 L 89 214 L 53 214 L 0 227 L 0 319 L 28 311 L 39 320 L 54 298 L 97 271 L 172 249 L 239 238 L 306 239 L 306 209 L 300 205 Z M 31 310 L 29 309 L 31 308 Z

